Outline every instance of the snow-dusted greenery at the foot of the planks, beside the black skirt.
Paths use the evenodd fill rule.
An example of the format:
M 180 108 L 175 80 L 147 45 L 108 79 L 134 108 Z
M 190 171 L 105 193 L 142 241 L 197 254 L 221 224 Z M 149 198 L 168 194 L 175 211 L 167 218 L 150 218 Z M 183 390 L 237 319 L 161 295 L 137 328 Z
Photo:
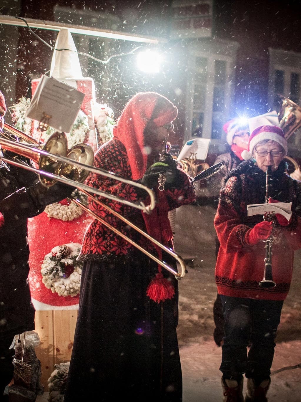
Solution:
M 51 373 L 47 384 L 49 390 L 49 402 L 63 402 L 67 383 L 70 361 L 67 363 L 55 364 L 55 370 Z

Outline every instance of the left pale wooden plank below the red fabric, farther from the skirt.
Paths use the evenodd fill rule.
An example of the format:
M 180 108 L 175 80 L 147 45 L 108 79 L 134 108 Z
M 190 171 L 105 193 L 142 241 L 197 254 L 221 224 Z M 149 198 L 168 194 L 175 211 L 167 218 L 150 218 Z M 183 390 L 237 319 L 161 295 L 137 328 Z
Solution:
M 53 371 L 55 362 L 54 339 L 53 339 L 53 311 L 35 312 L 35 331 L 39 334 L 41 344 L 35 348 L 37 358 L 41 361 L 41 384 L 48 391 L 47 380 Z

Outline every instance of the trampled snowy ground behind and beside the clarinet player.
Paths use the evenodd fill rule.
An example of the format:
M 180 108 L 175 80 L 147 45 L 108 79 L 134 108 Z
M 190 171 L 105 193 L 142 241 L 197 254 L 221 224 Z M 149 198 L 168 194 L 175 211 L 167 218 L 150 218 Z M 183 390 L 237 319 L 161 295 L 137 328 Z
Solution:
M 213 341 L 215 210 L 188 205 L 176 213 L 176 252 L 194 258 L 179 281 L 178 340 L 183 372 L 183 402 L 218 402 L 221 392 L 221 348 Z M 262 262 L 263 269 L 264 263 Z M 295 253 L 293 282 L 278 327 L 269 402 L 300 402 L 301 363 L 301 251 Z M 263 272 L 263 271 L 262 271 Z M 283 371 L 276 372 L 283 369 Z M 246 388 L 246 385 L 245 385 Z M 37 402 L 45 402 L 47 393 Z

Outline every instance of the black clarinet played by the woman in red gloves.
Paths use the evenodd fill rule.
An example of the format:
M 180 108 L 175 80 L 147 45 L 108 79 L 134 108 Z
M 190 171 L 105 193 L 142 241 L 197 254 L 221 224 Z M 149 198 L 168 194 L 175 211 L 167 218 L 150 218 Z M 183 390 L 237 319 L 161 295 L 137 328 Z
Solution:
M 272 174 L 271 166 L 266 167 L 266 198 L 265 203 L 268 203 L 268 199 L 272 196 Z M 265 221 L 271 221 L 274 218 L 273 213 L 266 213 L 263 215 Z M 273 231 L 270 236 L 264 240 L 266 245 L 264 246 L 266 250 L 266 256 L 264 258 L 264 275 L 262 281 L 259 282 L 259 286 L 263 289 L 271 289 L 276 286 L 272 277 L 272 243 L 273 243 Z

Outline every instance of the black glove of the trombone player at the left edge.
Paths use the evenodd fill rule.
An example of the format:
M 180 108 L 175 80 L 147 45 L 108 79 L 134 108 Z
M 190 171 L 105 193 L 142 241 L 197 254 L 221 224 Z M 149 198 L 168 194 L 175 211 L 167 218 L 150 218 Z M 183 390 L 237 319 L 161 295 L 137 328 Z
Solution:
M 51 187 L 45 187 L 41 182 L 38 182 L 30 187 L 28 191 L 37 207 L 45 207 L 70 197 L 74 187 L 59 182 Z

